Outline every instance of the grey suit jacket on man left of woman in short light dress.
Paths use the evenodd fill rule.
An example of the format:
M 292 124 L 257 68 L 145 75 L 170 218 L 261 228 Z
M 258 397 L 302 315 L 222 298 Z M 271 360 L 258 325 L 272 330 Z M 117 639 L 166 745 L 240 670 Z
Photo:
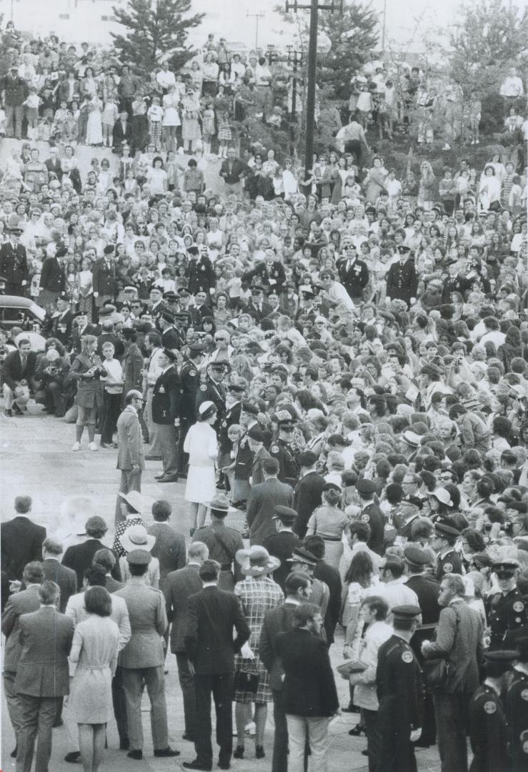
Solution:
M 73 619 L 44 606 L 20 618 L 22 654 L 15 689 L 35 697 L 69 694 L 68 655 L 72 646 Z

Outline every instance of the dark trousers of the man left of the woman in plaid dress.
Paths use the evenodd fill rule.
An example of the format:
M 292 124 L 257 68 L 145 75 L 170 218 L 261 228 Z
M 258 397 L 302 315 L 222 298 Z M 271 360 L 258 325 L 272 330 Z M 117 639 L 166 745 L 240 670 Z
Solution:
M 215 700 L 216 742 L 220 746 L 218 761 L 228 764 L 233 750 L 233 674 L 195 675 L 196 736 L 198 764 L 212 767 L 211 695 Z

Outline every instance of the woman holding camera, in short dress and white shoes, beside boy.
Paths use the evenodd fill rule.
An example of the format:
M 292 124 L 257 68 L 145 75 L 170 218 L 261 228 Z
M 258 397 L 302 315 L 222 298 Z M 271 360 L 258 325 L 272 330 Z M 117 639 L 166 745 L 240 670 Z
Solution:
M 100 357 L 96 354 L 97 338 L 94 335 L 85 335 L 81 341 L 81 353 L 77 354 L 69 370 L 69 378 L 77 383 L 77 421 L 75 427 L 75 442 L 72 450 L 80 450 L 80 441 L 84 427 L 88 426 L 88 440 L 90 450 L 98 450 L 95 442 L 97 411 L 103 408 L 103 383 L 100 381 L 104 374 Z

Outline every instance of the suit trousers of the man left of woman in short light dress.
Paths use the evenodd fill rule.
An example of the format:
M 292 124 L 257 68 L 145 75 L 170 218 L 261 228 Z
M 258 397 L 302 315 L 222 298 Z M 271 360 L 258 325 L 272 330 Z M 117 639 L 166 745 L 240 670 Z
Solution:
M 21 728 L 17 736 L 16 772 L 30 772 L 37 739 L 36 772 L 48 772 L 53 723 L 61 697 L 20 695 Z

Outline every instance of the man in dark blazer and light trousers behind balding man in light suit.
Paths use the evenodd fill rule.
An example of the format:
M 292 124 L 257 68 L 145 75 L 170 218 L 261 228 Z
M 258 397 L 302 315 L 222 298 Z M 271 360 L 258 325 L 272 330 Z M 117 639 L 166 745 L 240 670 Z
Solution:
M 152 394 L 152 420 L 157 425 L 163 472 L 157 482 L 178 482 L 178 428 L 180 425 L 181 384 L 174 363 L 178 354 L 168 348 L 157 357 L 161 369 Z

